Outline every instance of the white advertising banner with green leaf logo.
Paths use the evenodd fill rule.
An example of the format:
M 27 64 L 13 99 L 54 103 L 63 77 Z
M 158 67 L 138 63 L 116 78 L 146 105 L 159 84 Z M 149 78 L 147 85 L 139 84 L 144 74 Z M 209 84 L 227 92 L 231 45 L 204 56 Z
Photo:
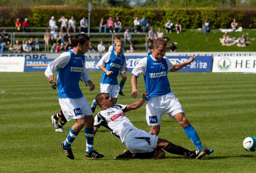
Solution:
M 256 56 L 214 56 L 212 72 L 256 73 Z

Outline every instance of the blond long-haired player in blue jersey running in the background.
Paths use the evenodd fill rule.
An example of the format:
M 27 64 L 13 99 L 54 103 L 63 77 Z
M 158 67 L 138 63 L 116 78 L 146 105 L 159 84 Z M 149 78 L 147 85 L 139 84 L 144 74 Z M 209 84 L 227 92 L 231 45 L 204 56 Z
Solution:
M 98 66 L 103 71 L 100 80 L 100 92 L 107 93 L 112 98 L 113 104 L 116 104 L 119 94 L 117 76 L 119 71 L 123 76 L 126 76 L 126 58 L 122 54 L 123 42 L 121 40 L 115 41 L 114 48 L 114 51 L 107 52 L 100 59 Z M 93 100 L 92 112 L 95 112 L 96 105 L 96 101 Z

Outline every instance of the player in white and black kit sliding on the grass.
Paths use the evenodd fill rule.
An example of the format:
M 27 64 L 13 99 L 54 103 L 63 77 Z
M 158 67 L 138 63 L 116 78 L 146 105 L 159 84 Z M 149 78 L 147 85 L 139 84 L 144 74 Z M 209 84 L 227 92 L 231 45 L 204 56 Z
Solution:
M 100 126 L 106 127 L 128 148 L 124 154 L 116 158 L 152 158 L 163 159 L 165 151 L 194 159 L 202 158 L 207 150 L 204 146 L 197 151 L 190 151 L 181 146 L 175 145 L 165 139 L 160 139 L 156 135 L 149 134 L 137 129 L 125 116 L 124 112 L 140 108 L 149 94 L 143 94 L 142 99 L 129 105 L 112 104 L 111 98 L 106 93 L 100 93 L 95 100 L 100 106 L 101 111 L 97 114 L 94 121 L 94 135 Z M 130 151 L 133 152 L 133 154 Z

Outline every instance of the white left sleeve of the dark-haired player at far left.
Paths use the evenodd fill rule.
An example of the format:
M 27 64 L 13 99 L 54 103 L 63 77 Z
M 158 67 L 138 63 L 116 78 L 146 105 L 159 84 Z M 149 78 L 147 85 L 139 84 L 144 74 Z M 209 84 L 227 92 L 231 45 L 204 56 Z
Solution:
M 57 59 L 53 60 L 48 64 L 47 69 L 44 74 L 46 77 L 53 76 L 53 72 L 58 68 L 64 68 L 71 58 L 71 54 L 69 52 L 62 53 Z

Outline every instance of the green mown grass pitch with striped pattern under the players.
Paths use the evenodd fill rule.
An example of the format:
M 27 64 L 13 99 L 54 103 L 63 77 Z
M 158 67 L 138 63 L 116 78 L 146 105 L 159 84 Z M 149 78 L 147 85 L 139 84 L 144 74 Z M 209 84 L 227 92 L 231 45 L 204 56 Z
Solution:
M 256 74 L 168 73 L 171 90 L 184 107 L 186 117 L 203 144 L 214 153 L 202 160 L 166 153 L 162 160 L 113 157 L 126 149 L 116 137 L 100 127 L 94 143 L 104 154 L 99 160 L 85 156 L 84 129 L 72 144 L 75 160 L 60 147 L 68 133 L 55 132 L 51 115 L 60 110 L 57 91 L 51 89 L 43 72 L 0 73 L 0 172 L 256 172 L 256 152 L 243 149 L 242 141 L 256 137 Z M 80 82 L 89 103 L 100 93 L 100 72 L 89 72 L 96 84 L 92 92 Z M 130 104 L 130 73 L 118 103 Z M 119 79 L 120 80 L 120 79 Z M 138 89 L 145 92 L 143 77 Z M 140 98 L 142 96 L 140 95 Z M 100 111 L 99 106 L 96 112 Z M 145 105 L 126 116 L 139 129 L 150 128 L 145 120 Z M 64 129 L 69 131 L 74 120 Z M 183 128 L 168 115 L 161 123 L 160 138 L 195 150 Z

